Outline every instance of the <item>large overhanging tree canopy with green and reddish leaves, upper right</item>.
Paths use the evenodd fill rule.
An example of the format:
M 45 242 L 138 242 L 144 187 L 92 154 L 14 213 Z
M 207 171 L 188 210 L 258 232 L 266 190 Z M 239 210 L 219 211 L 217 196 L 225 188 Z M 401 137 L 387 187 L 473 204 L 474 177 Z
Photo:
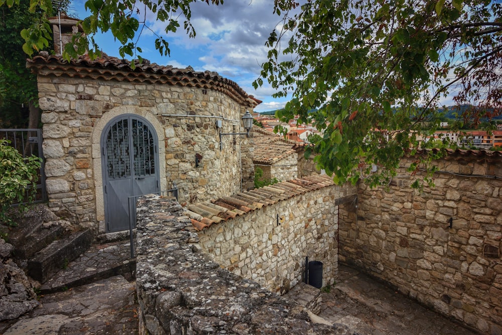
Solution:
M 292 94 L 277 116 L 299 114 L 299 123 L 323 132 L 312 136 L 311 150 L 335 181 L 355 182 L 372 164 L 380 169 L 369 183 L 388 181 L 438 126 L 448 94 L 474 106 L 464 118 L 500 115 L 502 6 L 495 1 L 276 0 L 275 12 L 282 25 L 254 85 L 268 80 L 275 96 Z

